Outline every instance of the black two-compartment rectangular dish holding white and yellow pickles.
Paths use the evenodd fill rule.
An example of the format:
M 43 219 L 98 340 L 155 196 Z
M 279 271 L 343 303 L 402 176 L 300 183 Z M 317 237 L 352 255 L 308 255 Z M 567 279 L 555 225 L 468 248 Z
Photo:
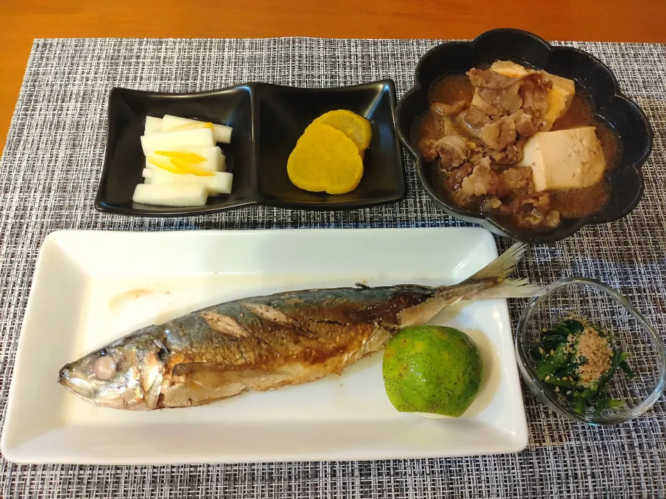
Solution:
M 191 94 L 114 88 L 109 98 L 108 141 L 95 207 L 130 216 L 195 216 L 250 204 L 290 209 L 357 209 L 397 202 L 407 195 L 402 151 L 395 135 L 395 85 L 381 80 L 351 87 L 312 89 L 248 83 Z M 287 159 L 298 137 L 317 116 L 345 109 L 365 116 L 373 139 L 364 175 L 347 194 L 302 191 L 287 176 Z M 200 207 L 158 207 L 132 201 L 142 182 L 145 157 L 139 137 L 146 116 L 173 114 L 233 128 L 220 144 L 232 193 L 209 196 Z

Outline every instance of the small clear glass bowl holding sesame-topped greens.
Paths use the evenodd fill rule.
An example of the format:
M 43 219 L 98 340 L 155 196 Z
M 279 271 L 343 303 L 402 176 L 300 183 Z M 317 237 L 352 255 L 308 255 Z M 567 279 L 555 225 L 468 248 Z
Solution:
M 590 410 L 586 414 L 578 414 L 536 377 L 530 347 L 542 328 L 570 315 L 586 319 L 590 326 L 612 334 L 615 346 L 629 353 L 627 362 L 635 371 L 635 378 L 629 380 L 618 369 L 608 390 L 610 397 L 626 403 L 624 408 L 606 409 L 597 417 Z M 533 299 L 520 317 L 515 353 L 525 382 L 542 403 L 564 417 L 592 425 L 617 424 L 640 416 L 654 405 L 666 385 L 663 340 L 626 298 L 592 279 L 563 279 L 548 286 L 543 295 Z

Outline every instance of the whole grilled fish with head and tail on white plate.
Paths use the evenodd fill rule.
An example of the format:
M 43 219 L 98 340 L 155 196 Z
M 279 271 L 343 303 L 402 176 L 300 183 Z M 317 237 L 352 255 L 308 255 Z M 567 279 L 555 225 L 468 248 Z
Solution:
M 314 289 L 229 301 L 148 326 L 65 365 L 60 383 L 110 408 L 202 405 L 341 373 L 384 348 L 402 327 L 424 324 L 462 300 L 530 297 L 507 279 L 525 245 L 513 245 L 454 286 Z

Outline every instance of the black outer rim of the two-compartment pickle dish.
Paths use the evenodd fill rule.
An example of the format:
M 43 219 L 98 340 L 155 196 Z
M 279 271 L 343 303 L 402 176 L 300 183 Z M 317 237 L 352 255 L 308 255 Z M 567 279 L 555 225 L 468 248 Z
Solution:
M 362 87 L 370 87 L 373 85 L 382 85 L 382 87 L 388 87 L 389 90 L 388 94 L 391 103 L 391 120 L 393 121 L 393 130 L 395 130 L 396 137 L 398 137 L 398 141 L 396 141 L 396 146 L 397 146 L 396 155 L 398 156 L 398 160 L 400 161 L 401 165 L 400 170 L 402 170 L 402 176 L 401 176 L 400 188 L 395 191 L 394 195 L 377 196 L 374 198 L 361 198 L 359 200 L 350 200 L 345 202 L 316 202 L 316 203 L 302 204 L 302 203 L 280 202 L 280 200 L 276 200 L 275 202 L 270 203 L 260 199 L 259 195 L 255 193 L 255 195 L 251 197 L 245 199 L 239 199 L 234 202 L 229 202 L 228 204 L 214 204 L 211 206 L 205 205 L 203 207 L 192 207 L 195 209 L 187 209 L 187 208 L 174 209 L 173 211 L 169 212 L 139 211 L 134 208 L 110 207 L 107 204 L 105 204 L 105 201 L 102 199 L 101 195 L 101 186 L 106 181 L 110 172 L 109 163 L 113 150 L 112 141 L 110 140 L 112 123 L 111 120 L 108 119 L 107 129 L 106 129 L 106 137 L 107 137 L 106 148 L 103 159 L 102 171 L 99 177 L 99 182 L 97 184 L 97 192 L 95 195 L 94 207 L 97 211 L 101 211 L 102 213 L 112 213 L 115 215 L 126 215 L 137 218 L 169 218 L 169 217 L 175 218 L 175 217 L 210 215 L 212 213 L 221 213 L 224 211 L 232 211 L 235 209 L 241 209 L 244 207 L 251 207 L 251 206 L 265 206 L 265 207 L 306 210 L 306 211 L 348 211 L 352 209 L 365 209 L 365 208 L 380 206 L 382 204 L 391 204 L 394 202 L 400 202 L 405 198 L 407 198 L 407 171 L 404 165 L 402 150 L 400 150 L 400 137 L 398 136 L 397 133 L 398 127 L 396 126 L 396 119 L 398 114 L 396 110 L 398 104 L 395 92 L 395 82 L 391 78 L 382 78 L 381 80 L 373 80 L 369 82 L 357 83 L 355 85 L 340 85 L 338 87 L 294 87 L 292 85 L 280 85 L 277 83 L 268 83 L 268 82 L 246 82 L 246 83 L 241 83 L 239 85 L 232 85 L 230 87 L 222 87 L 219 89 L 210 89 L 210 90 L 202 90 L 194 92 L 167 92 L 167 91 L 139 90 L 126 87 L 112 87 L 109 91 L 107 113 L 110 108 L 112 99 L 114 98 L 114 96 L 118 94 L 136 94 L 138 96 L 144 96 L 144 97 L 156 96 L 156 97 L 168 97 L 168 98 L 196 98 L 196 97 L 221 94 L 223 92 L 234 91 L 238 89 L 246 89 L 247 91 L 250 92 L 250 97 L 254 99 L 255 96 L 252 96 L 251 92 L 256 87 L 280 87 L 283 89 L 293 89 L 295 91 L 323 91 L 326 93 L 328 92 L 333 93 L 339 91 L 359 89 Z M 255 110 L 253 110 L 253 114 L 254 113 Z M 255 116 L 252 116 L 252 118 L 254 121 Z M 252 131 L 253 131 L 252 141 L 254 146 L 255 144 L 254 125 Z

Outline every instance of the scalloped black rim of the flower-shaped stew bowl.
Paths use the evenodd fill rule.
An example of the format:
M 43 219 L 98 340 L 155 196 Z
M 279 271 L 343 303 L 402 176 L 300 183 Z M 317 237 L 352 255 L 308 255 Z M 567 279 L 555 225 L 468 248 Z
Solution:
M 429 49 L 418 60 L 418 64 L 416 64 L 416 70 L 414 71 L 414 85 L 413 87 L 411 87 L 411 89 L 406 91 L 398 101 L 398 107 L 395 110 L 396 114 L 400 116 L 400 112 L 402 110 L 402 104 L 409 96 L 411 96 L 412 94 L 416 94 L 419 91 L 423 91 L 420 82 L 420 70 L 425 60 L 429 58 L 431 53 L 434 53 L 434 51 L 441 49 L 442 46 L 459 45 L 459 46 L 470 46 L 473 48 L 475 44 L 479 42 L 479 40 L 483 40 L 484 37 L 490 34 L 498 34 L 498 33 L 499 34 L 511 33 L 514 35 L 520 35 L 522 37 L 531 38 L 533 41 L 542 44 L 549 52 L 572 51 L 579 53 L 584 57 L 588 58 L 590 61 L 597 64 L 598 67 L 600 67 L 606 72 L 610 81 L 613 82 L 613 97 L 621 98 L 622 100 L 625 100 L 626 103 L 633 106 L 635 110 L 637 110 L 638 113 L 640 114 L 642 121 L 645 125 L 645 129 L 647 131 L 647 147 L 643 151 L 643 154 L 638 159 L 638 161 L 635 161 L 633 164 L 629 164 L 626 166 L 626 168 L 632 168 L 633 170 L 635 170 L 636 175 L 640 180 L 640 186 L 639 186 L 640 189 L 638 190 L 638 194 L 632 200 L 631 203 L 627 204 L 627 206 L 625 207 L 624 210 L 622 210 L 619 216 L 615 218 L 610 218 L 610 219 L 603 218 L 601 220 L 594 220 L 595 218 L 597 218 L 596 216 L 599 216 L 601 213 L 603 213 L 602 211 L 601 213 L 594 213 L 590 216 L 579 218 L 578 222 L 572 225 L 570 229 L 568 229 L 567 231 L 560 232 L 558 233 L 558 235 L 547 234 L 547 233 L 546 234 L 535 233 L 529 236 L 524 236 L 521 234 L 516 234 L 514 231 L 512 231 L 508 227 L 505 227 L 504 225 L 497 222 L 497 220 L 494 220 L 493 218 L 490 218 L 488 216 L 479 216 L 479 213 L 477 211 L 472 212 L 465 209 L 461 209 L 459 207 L 456 207 L 454 204 L 448 203 L 446 202 L 446 200 L 443 200 L 441 196 L 439 196 L 434 191 L 434 189 L 432 189 L 432 187 L 429 185 L 429 181 L 427 180 L 424 173 L 424 166 L 421 161 L 420 153 L 411 145 L 409 137 L 404 137 L 404 134 L 402 134 L 402 129 L 399 126 L 396 126 L 397 128 L 396 132 L 398 133 L 398 137 L 400 138 L 402 145 L 409 151 L 410 155 L 414 158 L 414 161 L 416 163 L 416 174 L 418 175 L 418 180 L 420 180 L 420 183 L 422 184 L 425 191 L 428 193 L 430 198 L 439 207 L 441 207 L 441 209 L 443 209 L 448 215 L 454 218 L 458 218 L 459 220 L 479 224 L 482 227 L 485 227 L 486 229 L 490 230 L 491 232 L 494 232 L 495 234 L 500 234 L 502 236 L 511 238 L 513 240 L 517 240 L 521 243 L 554 243 L 555 241 L 563 240 L 565 238 L 572 236 L 586 225 L 598 225 L 601 223 L 613 222 L 615 220 L 620 220 L 621 218 L 627 216 L 629 213 L 631 213 L 631 211 L 633 211 L 633 209 L 635 209 L 635 207 L 638 206 L 638 203 L 642 199 L 642 195 L 644 193 L 645 182 L 644 182 L 644 177 L 642 175 L 641 167 L 644 164 L 644 162 L 647 160 L 652 151 L 652 146 L 654 142 L 654 132 L 650 125 L 649 119 L 647 118 L 647 115 L 642 110 L 642 108 L 638 104 L 636 104 L 633 100 L 631 100 L 629 97 L 625 96 L 622 93 L 622 91 L 620 90 L 620 84 L 617 82 L 617 78 L 615 78 L 613 71 L 611 71 L 610 68 L 606 64 L 604 64 L 604 62 L 599 60 L 599 58 L 595 57 L 595 55 L 592 55 L 589 52 L 577 49 L 576 47 L 551 45 L 542 37 L 535 35 L 534 33 L 530 33 L 529 31 L 521 30 L 518 28 L 495 28 L 492 30 L 485 31 L 484 33 L 481 33 L 480 35 L 475 37 L 474 40 L 451 40 L 450 42 L 443 42 L 441 44 L 437 44 L 436 46 L 432 47 L 432 49 Z

